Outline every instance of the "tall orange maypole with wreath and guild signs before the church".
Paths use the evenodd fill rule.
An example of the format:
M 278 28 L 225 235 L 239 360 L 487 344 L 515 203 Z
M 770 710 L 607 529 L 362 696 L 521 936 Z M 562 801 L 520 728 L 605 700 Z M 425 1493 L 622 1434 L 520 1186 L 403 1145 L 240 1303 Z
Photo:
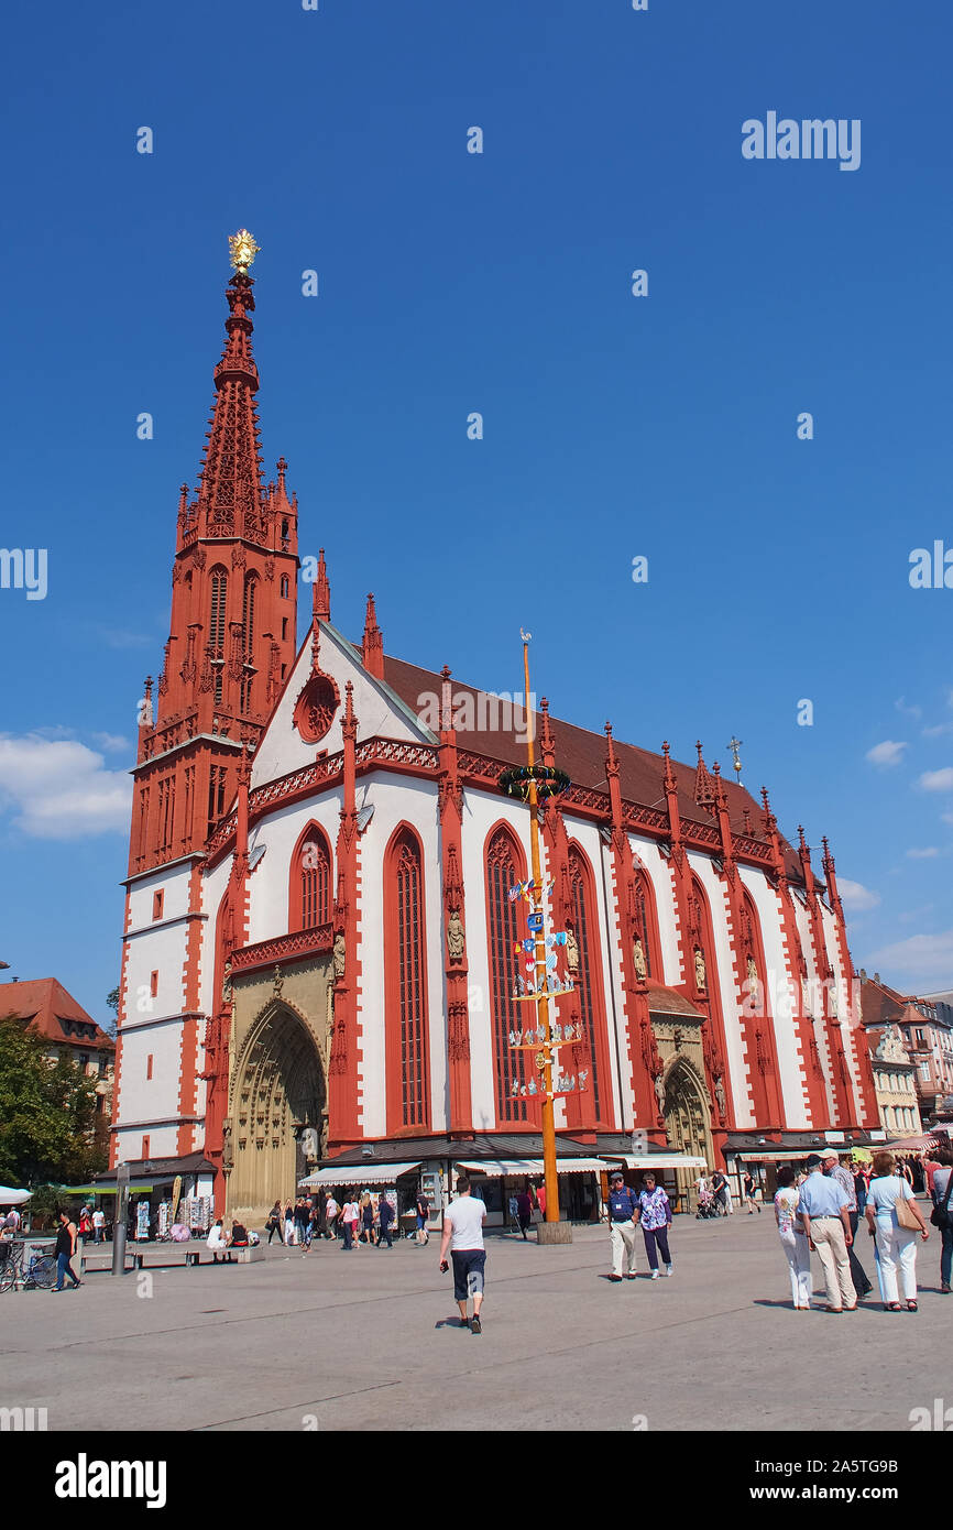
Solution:
M 517 967 L 517 978 L 512 998 L 526 1007 L 526 1024 L 509 1031 L 509 1045 L 514 1051 L 534 1054 L 535 1074 L 529 1083 L 514 1079 L 511 1092 L 514 1097 L 538 1099 L 542 1102 L 543 1118 L 543 1167 L 546 1172 L 546 1222 L 560 1219 L 560 1184 L 555 1164 L 555 1115 L 554 1100 L 568 1094 L 578 1094 L 586 1089 L 587 1069 L 566 1074 L 558 1065 L 560 1047 L 578 1045 L 583 1040 L 581 1025 L 560 1025 L 551 1011 L 551 1001 L 563 993 L 572 993 L 572 975 L 561 976 L 558 972 L 557 952 L 566 946 L 566 932 L 551 929 L 549 895 L 552 883 L 545 884 L 540 864 L 540 825 L 538 806 L 551 797 L 561 796 L 569 786 L 569 777 L 554 765 L 537 765 L 532 737 L 532 711 L 529 710 L 529 640 L 532 633 L 520 629 L 523 640 L 523 681 L 526 698 L 526 765 L 514 765 L 500 776 L 500 791 L 506 797 L 519 797 L 529 808 L 529 852 L 532 863 L 532 878 L 509 889 L 511 901 L 523 898 L 529 904 L 526 924 L 529 936 L 516 946 L 517 961 L 522 961 L 525 972 Z M 535 1011 L 535 1013 L 534 1013 Z M 555 1077 L 554 1077 L 555 1069 Z M 538 1077 L 537 1077 L 538 1076 Z M 566 1224 L 564 1232 L 569 1232 Z M 540 1229 L 542 1233 L 542 1229 Z M 540 1236 L 540 1242 L 555 1241 Z M 561 1239 L 560 1239 L 561 1241 Z

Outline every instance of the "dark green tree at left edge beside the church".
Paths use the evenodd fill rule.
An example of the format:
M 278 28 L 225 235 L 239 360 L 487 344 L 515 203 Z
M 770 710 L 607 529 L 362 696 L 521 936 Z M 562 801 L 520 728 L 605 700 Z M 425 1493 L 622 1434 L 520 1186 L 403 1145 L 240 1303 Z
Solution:
M 60 1184 L 106 1167 L 93 1144 L 96 1080 L 20 1021 L 0 1019 L 0 1183 Z

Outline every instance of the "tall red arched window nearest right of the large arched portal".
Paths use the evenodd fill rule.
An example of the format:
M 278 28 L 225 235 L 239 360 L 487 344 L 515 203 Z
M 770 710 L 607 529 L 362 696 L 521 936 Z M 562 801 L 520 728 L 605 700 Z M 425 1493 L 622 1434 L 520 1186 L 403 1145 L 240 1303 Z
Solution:
M 389 1117 L 393 1126 L 428 1126 L 424 863 L 410 829 L 389 851 L 384 895 Z

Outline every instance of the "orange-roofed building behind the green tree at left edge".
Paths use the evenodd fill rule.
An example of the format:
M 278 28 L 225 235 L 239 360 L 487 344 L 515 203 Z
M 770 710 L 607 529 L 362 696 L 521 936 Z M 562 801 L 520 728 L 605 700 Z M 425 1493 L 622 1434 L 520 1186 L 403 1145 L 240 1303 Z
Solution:
M 109 1152 L 113 1115 L 116 1043 L 55 978 L 0 984 L 0 1019 L 12 1016 L 49 1043 L 49 1056 L 67 1056 L 96 1080 L 96 1144 Z

